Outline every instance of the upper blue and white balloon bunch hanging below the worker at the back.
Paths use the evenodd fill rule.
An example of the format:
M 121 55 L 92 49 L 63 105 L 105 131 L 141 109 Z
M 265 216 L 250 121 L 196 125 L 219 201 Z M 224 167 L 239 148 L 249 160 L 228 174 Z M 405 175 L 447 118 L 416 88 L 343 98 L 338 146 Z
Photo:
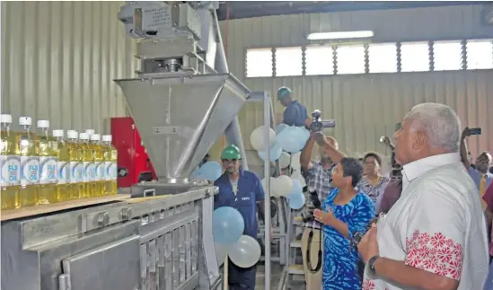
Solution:
M 263 126 L 257 127 L 251 132 L 251 146 L 259 152 L 260 159 L 266 161 L 267 154 L 264 142 L 266 134 Z M 289 207 L 300 209 L 304 206 L 305 198 L 303 188 L 306 185 L 301 174 L 300 151 L 310 137 L 310 132 L 305 127 L 287 126 L 279 124 L 276 131 L 269 128 L 269 162 L 279 162 L 281 169 L 288 166 L 293 169 L 291 177 L 281 175 L 277 178 L 270 178 L 270 193 L 274 197 L 285 197 L 289 202 Z M 266 180 L 262 180 L 264 190 Z

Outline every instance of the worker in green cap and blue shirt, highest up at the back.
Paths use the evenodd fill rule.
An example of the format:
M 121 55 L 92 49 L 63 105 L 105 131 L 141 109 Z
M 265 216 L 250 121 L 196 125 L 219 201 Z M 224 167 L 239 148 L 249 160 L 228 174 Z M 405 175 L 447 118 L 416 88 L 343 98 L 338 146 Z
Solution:
M 308 119 L 308 112 L 304 105 L 299 101 L 293 101 L 291 90 L 283 86 L 277 90 L 277 100 L 286 107 L 284 110 L 283 123 L 289 126 L 305 126 Z

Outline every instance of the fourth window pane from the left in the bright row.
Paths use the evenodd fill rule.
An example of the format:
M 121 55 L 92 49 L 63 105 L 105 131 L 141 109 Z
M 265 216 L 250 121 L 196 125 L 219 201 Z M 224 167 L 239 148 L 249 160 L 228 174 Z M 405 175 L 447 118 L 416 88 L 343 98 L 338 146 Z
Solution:
M 338 75 L 365 74 L 365 47 L 363 45 L 336 48 Z

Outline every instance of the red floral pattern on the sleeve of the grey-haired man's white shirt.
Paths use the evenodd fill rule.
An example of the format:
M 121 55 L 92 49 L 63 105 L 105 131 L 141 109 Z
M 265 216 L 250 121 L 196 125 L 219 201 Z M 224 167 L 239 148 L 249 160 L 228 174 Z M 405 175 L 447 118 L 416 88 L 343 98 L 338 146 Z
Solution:
M 406 238 L 405 263 L 436 275 L 459 280 L 462 273 L 462 251 L 462 244 L 453 242 L 453 239 L 445 237 L 443 233 L 414 231 L 411 237 Z

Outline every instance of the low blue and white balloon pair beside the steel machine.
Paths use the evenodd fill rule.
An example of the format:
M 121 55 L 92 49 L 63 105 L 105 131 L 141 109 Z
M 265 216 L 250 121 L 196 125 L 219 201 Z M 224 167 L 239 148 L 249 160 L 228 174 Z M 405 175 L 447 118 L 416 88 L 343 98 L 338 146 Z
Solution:
M 217 263 L 226 256 L 240 268 L 250 268 L 260 259 L 260 244 L 243 234 L 245 223 L 242 214 L 233 207 L 219 207 L 212 220 Z

